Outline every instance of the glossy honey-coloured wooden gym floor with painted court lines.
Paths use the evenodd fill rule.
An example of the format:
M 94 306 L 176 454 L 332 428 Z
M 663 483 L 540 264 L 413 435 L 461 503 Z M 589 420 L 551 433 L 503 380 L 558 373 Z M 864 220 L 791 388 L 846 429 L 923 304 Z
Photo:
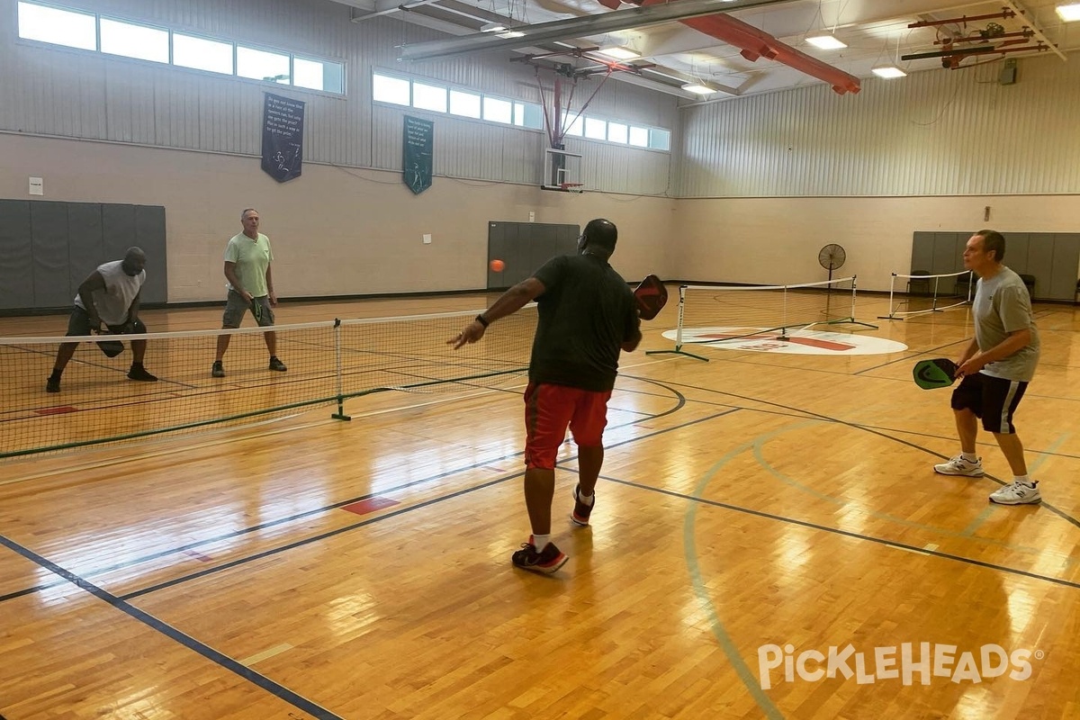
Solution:
M 279 322 L 488 301 L 286 303 Z M 955 356 L 967 310 L 860 331 L 908 345 L 890 355 L 646 355 L 674 312 L 623 356 L 588 529 L 566 519 L 563 448 L 570 561 L 551 578 L 510 565 L 524 379 L 3 463 L 0 716 L 1080 717 L 1071 305 L 1037 307 L 1016 422 L 1044 502 L 1018 507 L 987 502 L 1011 480 L 988 435 L 987 477 L 931 470 L 958 450 L 948 391 L 910 366 Z M 220 309 L 145 316 L 213 328 Z

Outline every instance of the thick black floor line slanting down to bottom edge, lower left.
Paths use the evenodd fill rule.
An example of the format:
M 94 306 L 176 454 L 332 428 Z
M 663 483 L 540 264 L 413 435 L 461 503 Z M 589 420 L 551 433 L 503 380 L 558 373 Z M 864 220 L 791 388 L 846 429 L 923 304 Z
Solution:
M 33 562 L 35 565 L 59 575 L 60 578 L 71 583 L 72 585 L 79 587 L 80 589 L 86 593 L 90 593 L 98 600 L 102 600 L 103 602 L 112 606 L 113 608 L 123 612 L 130 617 L 143 623 L 147 627 L 157 630 L 158 633 L 161 633 L 165 637 L 175 640 L 185 648 L 199 653 L 200 655 L 211 661 L 212 663 L 215 663 L 216 665 L 219 665 L 220 667 L 224 667 L 225 669 L 230 670 L 231 673 L 240 676 L 242 679 L 247 680 L 248 682 L 255 685 L 258 685 L 262 690 L 266 690 L 270 694 L 279 697 L 280 699 L 283 699 L 284 702 L 296 707 L 297 709 L 302 710 L 303 712 L 307 712 L 315 718 L 319 718 L 320 720 L 343 720 L 340 716 L 330 712 L 326 708 L 316 705 L 315 703 L 309 701 L 306 697 L 302 697 L 301 695 L 293 692 L 288 688 L 274 682 L 265 675 L 256 673 L 252 668 L 241 665 L 240 663 L 229 657 L 228 655 L 218 652 L 217 650 L 214 650 L 210 646 L 200 642 L 199 640 L 195 640 L 186 633 L 181 633 L 172 625 L 168 625 L 158 620 L 150 613 L 139 610 L 138 608 L 132 606 L 131 603 L 124 601 L 123 599 L 118 598 L 111 593 L 102 589 L 97 585 L 94 585 L 90 581 L 86 581 L 80 578 L 79 575 L 75 574 L 73 572 L 70 572 L 62 568 L 60 566 L 56 565 L 55 562 L 42 557 L 41 555 L 38 555 L 33 551 L 19 545 L 18 543 L 9 540 L 3 535 L 0 535 L 0 545 L 5 546 L 10 551 L 17 553 L 18 555 L 22 555 L 24 558 Z

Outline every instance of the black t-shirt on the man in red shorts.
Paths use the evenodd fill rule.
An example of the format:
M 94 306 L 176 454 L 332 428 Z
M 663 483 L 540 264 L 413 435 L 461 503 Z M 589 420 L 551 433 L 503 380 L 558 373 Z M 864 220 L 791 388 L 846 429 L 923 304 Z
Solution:
M 552 258 L 532 276 L 543 283 L 529 380 L 604 392 L 615 386 L 619 351 L 637 332 L 634 293 L 607 260 Z

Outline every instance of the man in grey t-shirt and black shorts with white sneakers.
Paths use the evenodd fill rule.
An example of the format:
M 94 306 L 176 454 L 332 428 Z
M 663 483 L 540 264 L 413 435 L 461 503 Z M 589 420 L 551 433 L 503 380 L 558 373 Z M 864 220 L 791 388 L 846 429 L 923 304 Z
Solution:
M 1013 412 L 1039 363 L 1039 331 L 1024 281 L 1001 264 L 1004 254 L 1005 239 L 994 230 L 976 232 L 963 250 L 963 267 L 978 275 L 978 284 L 972 303 L 975 337 L 957 361 L 957 377 L 963 380 L 951 400 L 961 452 L 934 471 L 982 477 L 983 461 L 975 454 L 982 418 L 983 430 L 994 433 L 1013 472 L 1012 484 L 991 492 L 990 501 L 1021 505 L 1042 500 L 1039 484 L 1027 475 L 1024 446 L 1013 424 Z

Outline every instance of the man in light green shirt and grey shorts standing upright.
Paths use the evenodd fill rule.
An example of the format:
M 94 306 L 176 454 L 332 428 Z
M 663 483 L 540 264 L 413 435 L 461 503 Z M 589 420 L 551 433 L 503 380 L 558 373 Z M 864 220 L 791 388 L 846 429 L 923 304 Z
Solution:
M 225 246 L 225 277 L 229 281 L 229 297 L 221 327 L 240 327 L 244 313 L 248 310 L 259 327 L 273 327 L 273 309 L 278 305 L 278 296 L 273 291 L 273 279 L 270 274 L 270 262 L 273 260 L 270 239 L 259 232 L 259 214 L 254 207 L 240 214 L 240 222 L 244 231 L 233 235 Z M 270 352 L 269 368 L 284 372 L 288 368 L 278 359 L 278 334 L 268 330 L 264 338 Z M 221 361 L 231 339 L 231 335 L 217 337 L 217 357 L 211 370 L 215 378 L 225 377 Z

